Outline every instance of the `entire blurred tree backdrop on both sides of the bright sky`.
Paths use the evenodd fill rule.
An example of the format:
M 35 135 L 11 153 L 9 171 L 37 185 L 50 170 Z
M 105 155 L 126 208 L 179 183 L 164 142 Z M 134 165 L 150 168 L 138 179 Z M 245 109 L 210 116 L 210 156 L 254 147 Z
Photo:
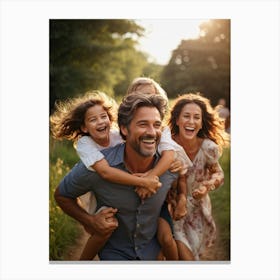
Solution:
M 138 76 L 155 79 L 170 98 L 199 91 L 213 106 L 223 97 L 230 108 L 230 20 L 203 23 L 200 37 L 182 39 L 167 65 L 138 50 L 146 30 L 134 20 L 52 19 L 49 28 L 50 113 L 57 99 L 88 90 L 120 99 Z

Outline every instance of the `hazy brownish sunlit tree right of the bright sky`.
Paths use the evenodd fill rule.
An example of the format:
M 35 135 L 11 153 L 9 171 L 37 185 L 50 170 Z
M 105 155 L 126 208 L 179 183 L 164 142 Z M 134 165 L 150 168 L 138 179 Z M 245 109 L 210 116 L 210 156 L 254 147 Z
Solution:
M 230 101 L 230 21 L 211 20 L 200 26 L 200 37 L 182 40 L 163 69 L 161 84 L 169 97 L 201 92 L 213 104 Z

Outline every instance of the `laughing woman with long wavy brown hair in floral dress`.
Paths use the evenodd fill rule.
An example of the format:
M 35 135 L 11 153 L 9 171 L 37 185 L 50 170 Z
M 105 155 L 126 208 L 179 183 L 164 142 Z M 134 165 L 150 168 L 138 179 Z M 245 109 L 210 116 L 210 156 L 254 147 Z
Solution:
M 189 93 L 178 97 L 173 104 L 169 120 L 172 138 L 193 163 L 186 174 L 188 215 L 174 221 L 174 235 L 179 258 L 199 260 L 216 237 L 208 192 L 224 182 L 218 160 L 229 143 L 229 136 L 207 98 Z

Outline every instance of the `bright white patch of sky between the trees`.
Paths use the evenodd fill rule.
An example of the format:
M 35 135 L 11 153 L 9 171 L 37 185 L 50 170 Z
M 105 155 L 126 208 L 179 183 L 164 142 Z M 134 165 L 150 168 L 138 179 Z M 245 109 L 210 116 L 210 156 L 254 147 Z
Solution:
M 150 55 L 150 61 L 167 64 L 172 51 L 183 39 L 199 36 L 199 25 L 208 19 L 143 19 L 136 22 L 146 29 L 139 49 Z

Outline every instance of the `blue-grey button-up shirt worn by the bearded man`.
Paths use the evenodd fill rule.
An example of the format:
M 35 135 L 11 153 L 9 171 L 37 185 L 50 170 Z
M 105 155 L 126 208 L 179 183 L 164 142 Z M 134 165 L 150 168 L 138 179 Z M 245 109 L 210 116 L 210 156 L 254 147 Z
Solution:
M 125 144 L 105 149 L 102 153 L 108 163 L 127 171 L 124 165 Z M 159 154 L 155 155 L 156 164 Z M 128 172 L 128 171 L 127 171 Z M 156 260 L 159 244 L 156 239 L 161 206 L 177 174 L 169 171 L 161 177 L 161 188 L 156 194 L 141 201 L 135 188 L 103 180 L 97 172 L 89 171 L 82 162 L 77 163 L 59 185 L 60 194 L 76 198 L 93 191 L 97 209 L 110 206 L 118 209 L 119 226 L 99 253 L 101 260 Z

